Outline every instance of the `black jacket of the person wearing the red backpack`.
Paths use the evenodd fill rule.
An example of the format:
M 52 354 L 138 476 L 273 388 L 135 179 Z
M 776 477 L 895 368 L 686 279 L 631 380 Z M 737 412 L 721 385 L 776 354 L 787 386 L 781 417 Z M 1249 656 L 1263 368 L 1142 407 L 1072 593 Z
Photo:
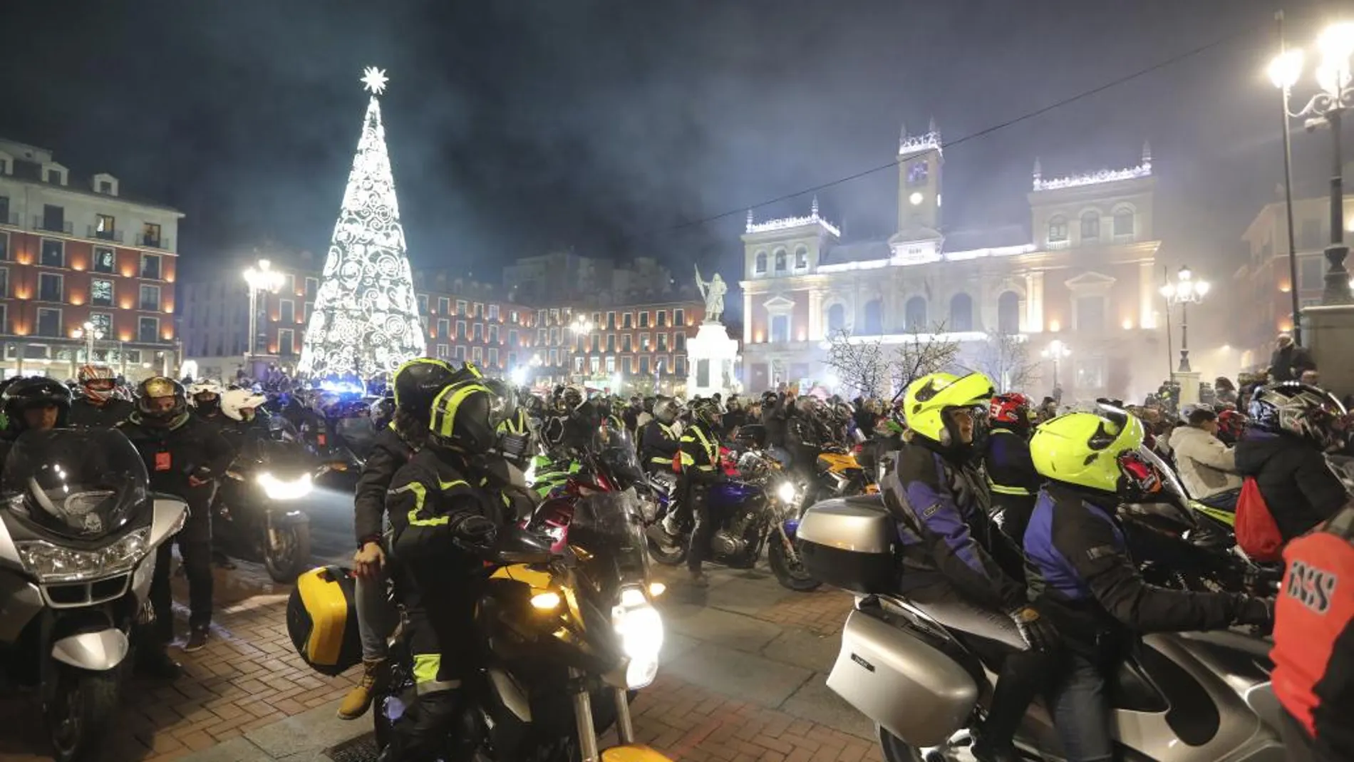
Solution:
M 1254 476 L 1284 541 L 1335 516 L 1349 495 L 1309 441 L 1252 430 L 1236 443 L 1236 472 Z

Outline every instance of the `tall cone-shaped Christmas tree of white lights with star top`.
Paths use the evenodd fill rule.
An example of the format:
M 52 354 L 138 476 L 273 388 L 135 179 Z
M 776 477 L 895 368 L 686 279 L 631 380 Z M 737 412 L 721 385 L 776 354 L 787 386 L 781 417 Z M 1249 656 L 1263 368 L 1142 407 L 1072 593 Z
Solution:
M 367 379 L 428 349 L 376 99 L 386 73 L 368 66 L 362 81 L 371 102 L 297 365 L 311 378 Z

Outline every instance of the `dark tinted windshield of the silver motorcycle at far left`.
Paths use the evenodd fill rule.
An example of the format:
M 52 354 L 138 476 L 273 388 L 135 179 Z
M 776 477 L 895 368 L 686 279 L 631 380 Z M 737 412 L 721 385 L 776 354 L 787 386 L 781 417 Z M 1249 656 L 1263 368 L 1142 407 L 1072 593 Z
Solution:
M 49 532 L 96 540 L 127 524 L 150 490 L 146 466 L 122 432 L 53 429 L 15 440 L 0 493 Z

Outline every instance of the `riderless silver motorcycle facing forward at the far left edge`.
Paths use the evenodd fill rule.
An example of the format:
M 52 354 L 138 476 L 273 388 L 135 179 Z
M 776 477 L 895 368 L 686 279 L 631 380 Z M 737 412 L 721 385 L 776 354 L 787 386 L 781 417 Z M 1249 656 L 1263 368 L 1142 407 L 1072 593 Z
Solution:
M 156 550 L 188 506 L 150 491 L 116 430 L 24 433 L 0 501 L 0 686 L 35 690 L 56 759 L 99 759 L 152 616 Z

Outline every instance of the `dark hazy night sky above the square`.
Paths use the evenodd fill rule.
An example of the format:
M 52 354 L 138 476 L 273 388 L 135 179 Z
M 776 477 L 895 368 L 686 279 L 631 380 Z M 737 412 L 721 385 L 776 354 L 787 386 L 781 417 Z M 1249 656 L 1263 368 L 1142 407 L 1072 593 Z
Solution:
M 416 267 L 497 280 L 573 248 L 733 273 L 747 206 L 887 164 L 899 125 L 945 152 L 945 223 L 1028 225 L 1045 176 L 1152 143 L 1163 261 L 1225 280 L 1281 180 L 1273 0 L 8 0 L 0 134 L 188 214 L 188 275 L 265 241 L 324 252 L 363 66 L 383 99 Z M 1288 4 L 1290 37 L 1350 4 Z M 1307 85 L 1304 85 L 1307 87 Z M 1298 184 L 1328 138 L 1294 138 Z M 848 238 L 887 236 L 895 173 L 819 191 Z M 757 210 L 806 212 L 810 196 Z M 692 221 L 727 214 L 711 222 Z

